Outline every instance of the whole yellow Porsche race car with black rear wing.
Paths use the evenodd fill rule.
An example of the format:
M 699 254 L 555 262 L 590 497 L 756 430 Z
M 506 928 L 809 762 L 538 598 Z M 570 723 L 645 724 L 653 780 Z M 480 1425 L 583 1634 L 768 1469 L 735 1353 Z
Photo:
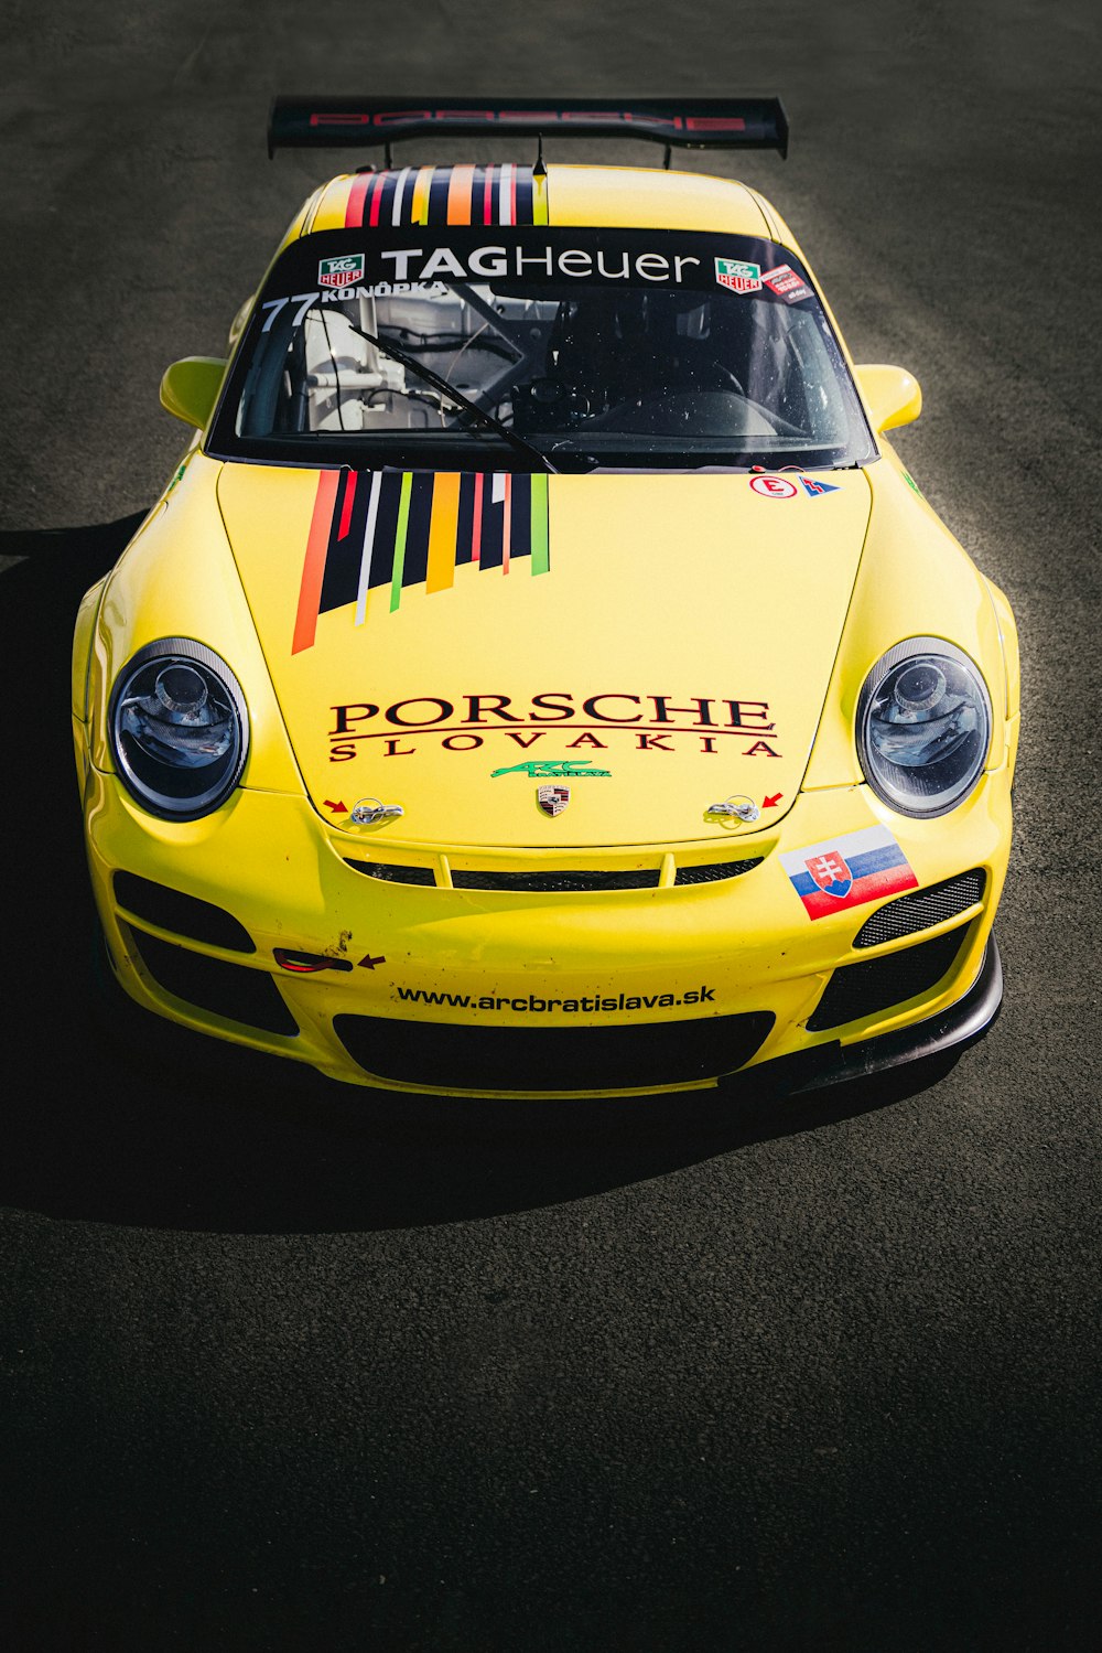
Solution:
M 316 190 L 84 598 L 73 732 L 147 1007 L 449 1096 L 800 1089 L 995 1018 L 1018 646 L 778 212 L 544 136 L 775 99 L 278 99 Z M 530 141 L 400 165 L 398 139 Z

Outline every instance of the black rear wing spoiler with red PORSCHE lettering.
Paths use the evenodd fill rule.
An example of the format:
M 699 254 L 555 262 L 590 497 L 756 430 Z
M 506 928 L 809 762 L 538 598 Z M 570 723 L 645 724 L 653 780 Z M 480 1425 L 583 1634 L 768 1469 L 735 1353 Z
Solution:
M 646 137 L 671 149 L 777 149 L 788 154 L 780 98 L 276 98 L 268 157 L 278 149 L 387 150 L 408 137 Z

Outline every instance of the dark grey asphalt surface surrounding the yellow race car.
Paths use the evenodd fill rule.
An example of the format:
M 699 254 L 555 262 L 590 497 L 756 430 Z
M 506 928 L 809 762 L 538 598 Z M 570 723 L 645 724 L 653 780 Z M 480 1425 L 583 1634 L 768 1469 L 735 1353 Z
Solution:
M 1100 1648 L 1094 8 L 0 28 L 5 1645 Z M 411 1104 L 101 1008 L 71 617 L 182 445 L 162 367 L 218 354 L 329 170 L 268 164 L 271 93 L 360 86 L 785 96 L 790 160 L 739 172 L 856 357 L 917 374 L 899 446 L 1021 628 L 1006 1002 L 948 1071 Z

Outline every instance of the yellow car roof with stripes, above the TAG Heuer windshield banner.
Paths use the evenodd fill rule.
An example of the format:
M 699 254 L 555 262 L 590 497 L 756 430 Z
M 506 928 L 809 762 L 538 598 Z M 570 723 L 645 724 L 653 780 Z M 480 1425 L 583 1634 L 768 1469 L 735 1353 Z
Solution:
M 291 225 L 284 246 L 304 235 L 321 230 L 342 230 L 360 225 L 365 188 L 378 188 L 372 180 L 403 174 L 406 200 L 415 185 L 428 202 L 430 187 L 439 188 L 448 180 L 471 185 L 477 172 L 479 182 L 487 174 L 501 174 L 502 167 L 446 165 L 446 167 L 393 167 L 388 172 L 340 174 L 324 183 L 306 202 Z M 532 179 L 530 165 L 514 167 L 514 174 Z M 767 236 L 793 246 L 791 233 L 770 203 L 745 183 L 717 179 L 701 172 L 666 172 L 659 167 L 575 167 L 549 165 L 542 190 L 542 213 L 537 222 L 555 226 L 608 226 L 636 230 L 710 230 L 715 233 Z M 405 218 L 406 223 L 426 223 L 428 218 Z M 446 215 L 441 225 L 471 223 L 473 218 Z M 501 222 L 494 218 L 492 222 Z M 506 220 L 512 222 L 512 220 Z M 532 218 L 527 220 L 529 223 Z

